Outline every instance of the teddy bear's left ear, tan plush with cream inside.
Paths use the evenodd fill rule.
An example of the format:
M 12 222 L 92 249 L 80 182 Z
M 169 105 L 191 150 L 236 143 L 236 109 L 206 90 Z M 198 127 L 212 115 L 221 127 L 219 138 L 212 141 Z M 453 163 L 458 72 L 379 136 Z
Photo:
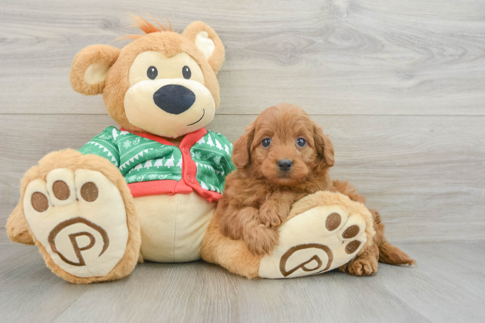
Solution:
M 120 49 L 93 45 L 76 54 L 69 76 L 74 91 L 85 95 L 101 94 L 109 68 L 116 62 Z

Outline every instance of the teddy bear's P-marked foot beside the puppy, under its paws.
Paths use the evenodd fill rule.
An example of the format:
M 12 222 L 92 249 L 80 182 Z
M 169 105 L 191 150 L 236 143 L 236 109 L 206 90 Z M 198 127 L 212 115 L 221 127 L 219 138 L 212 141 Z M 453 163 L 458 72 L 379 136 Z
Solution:
M 309 195 L 295 203 L 292 214 L 280 228 L 280 244 L 261 259 L 259 277 L 292 278 L 333 270 L 354 258 L 375 234 L 371 213 L 340 193 Z

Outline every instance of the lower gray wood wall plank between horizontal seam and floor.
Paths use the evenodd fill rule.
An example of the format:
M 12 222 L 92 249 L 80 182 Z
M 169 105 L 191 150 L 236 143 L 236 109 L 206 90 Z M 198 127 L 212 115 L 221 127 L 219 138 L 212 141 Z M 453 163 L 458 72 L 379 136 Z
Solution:
M 255 117 L 219 115 L 208 129 L 234 141 Z M 391 241 L 484 239 L 485 117 L 313 118 L 334 142 L 332 177 L 350 181 L 380 210 Z M 110 125 L 106 115 L 2 116 L 2 225 L 25 171 L 52 150 L 79 149 Z

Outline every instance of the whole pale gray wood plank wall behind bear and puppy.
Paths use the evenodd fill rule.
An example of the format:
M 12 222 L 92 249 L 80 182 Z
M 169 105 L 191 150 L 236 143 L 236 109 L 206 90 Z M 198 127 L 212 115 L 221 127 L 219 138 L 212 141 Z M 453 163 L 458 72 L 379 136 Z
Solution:
M 302 106 L 336 149 L 334 178 L 381 211 L 393 242 L 484 239 L 485 2 L 15 0 L 0 6 L 0 223 L 22 174 L 114 122 L 74 92 L 77 51 L 139 33 L 129 11 L 193 20 L 226 46 L 208 128 L 234 141 L 264 108 Z M 6 243 L 4 231 L 0 243 Z

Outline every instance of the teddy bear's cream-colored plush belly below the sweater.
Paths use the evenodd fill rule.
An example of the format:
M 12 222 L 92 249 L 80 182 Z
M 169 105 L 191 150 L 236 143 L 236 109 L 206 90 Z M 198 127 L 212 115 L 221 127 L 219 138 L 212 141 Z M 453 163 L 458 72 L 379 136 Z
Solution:
M 217 206 L 198 193 L 134 198 L 145 260 L 173 263 L 200 259 L 205 230 Z

